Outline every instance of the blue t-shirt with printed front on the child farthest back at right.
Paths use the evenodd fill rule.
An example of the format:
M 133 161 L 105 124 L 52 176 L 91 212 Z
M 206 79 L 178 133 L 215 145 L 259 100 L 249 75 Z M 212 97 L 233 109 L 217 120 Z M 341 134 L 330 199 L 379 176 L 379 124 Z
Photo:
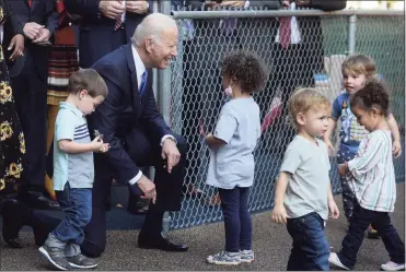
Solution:
M 357 117 L 350 109 L 349 93 L 337 96 L 333 103 L 333 119 L 341 121 L 340 149 L 347 149 L 357 154 L 360 142 L 368 135 L 368 131 L 358 123 Z

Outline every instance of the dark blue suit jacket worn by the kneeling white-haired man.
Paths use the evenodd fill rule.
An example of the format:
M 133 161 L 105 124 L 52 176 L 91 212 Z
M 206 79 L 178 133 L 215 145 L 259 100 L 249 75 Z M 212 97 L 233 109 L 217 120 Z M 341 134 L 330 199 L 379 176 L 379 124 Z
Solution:
M 118 180 L 127 182 L 139 172 L 131 153 L 139 152 L 147 144 L 159 146 L 162 137 L 173 133 L 158 111 L 152 69 L 148 69 L 142 97 L 139 95 L 131 44 L 106 55 L 92 69 L 105 80 L 108 95 L 90 116 L 89 127 L 104 134 L 104 141 L 111 144 L 108 161 Z

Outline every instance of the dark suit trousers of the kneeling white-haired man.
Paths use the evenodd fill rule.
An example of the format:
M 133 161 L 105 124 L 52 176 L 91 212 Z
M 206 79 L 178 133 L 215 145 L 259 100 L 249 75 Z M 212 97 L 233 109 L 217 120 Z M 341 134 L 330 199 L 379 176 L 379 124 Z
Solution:
M 185 176 L 187 145 L 184 138 L 175 135 L 181 152 L 181 162 L 169 174 L 161 157 L 162 147 L 151 145 L 148 137 L 139 131 L 130 134 L 127 141 L 136 143 L 134 149 L 127 147 L 128 154 L 138 166 L 155 167 L 156 203 L 150 204 L 140 235 L 147 240 L 160 239 L 162 216 L 164 211 L 178 211 L 182 203 L 182 185 Z M 102 255 L 106 245 L 106 211 L 105 198 L 109 193 L 112 169 L 104 155 L 95 155 L 95 179 L 93 185 L 92 218 L 85 228 L 85 239 L 81 248 L 84 255 L 96 258 Z

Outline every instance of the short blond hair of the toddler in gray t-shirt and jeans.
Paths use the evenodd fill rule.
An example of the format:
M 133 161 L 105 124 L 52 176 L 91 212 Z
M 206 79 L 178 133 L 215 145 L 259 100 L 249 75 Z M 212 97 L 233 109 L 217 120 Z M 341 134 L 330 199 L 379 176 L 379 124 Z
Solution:
M 332 103 L 324 94 L 312 87 L 298 88 L 288 102 L 289 117 L 295 128 L 298 128 L 297 116 L 299 113 L 305 114 L 310 109 L 322 108 L 327 108 L 329 111 Z

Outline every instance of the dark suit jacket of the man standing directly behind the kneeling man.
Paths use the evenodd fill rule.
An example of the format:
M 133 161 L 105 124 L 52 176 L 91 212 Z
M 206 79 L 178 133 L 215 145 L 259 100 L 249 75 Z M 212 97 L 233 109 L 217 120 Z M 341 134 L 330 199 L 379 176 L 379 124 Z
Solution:
M 114 51 L 117 47 L 112 48 L 112 40 L 115 36 L 115 20 L 105 17 L 100 14 L 98 4 L 101 0 L 65 0 L 65 5 L 69 13 L 82 16 L 80 23 L 79 54 L 80 67 L 89 68 L 103 56 Z M 152 0 L 149 12 L 152 11 Z M 146 15 L 131 12 L 126 13 L 125 35 L 126 43 L 130 43 L 134 32 Z

